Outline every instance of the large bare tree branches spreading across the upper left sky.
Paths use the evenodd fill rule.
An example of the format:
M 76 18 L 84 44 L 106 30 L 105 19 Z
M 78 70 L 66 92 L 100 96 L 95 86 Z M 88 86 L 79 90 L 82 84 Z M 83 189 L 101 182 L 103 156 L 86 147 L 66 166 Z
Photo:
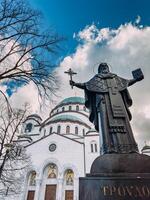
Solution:
M 18 86 L 31 81 L 40 97 L 50 97 L 58 88 L 51 61 L 61 40 L 53 30 L 44 30 L 41 13 L 27 0 L 1 0 L 0 83 Z

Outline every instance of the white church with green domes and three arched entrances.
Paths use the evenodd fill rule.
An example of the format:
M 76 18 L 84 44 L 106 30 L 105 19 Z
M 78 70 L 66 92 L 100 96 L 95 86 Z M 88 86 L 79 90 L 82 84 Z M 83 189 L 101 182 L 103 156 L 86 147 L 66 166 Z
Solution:
M 84 99 L 64 99 L 44 122 L 28 116 L 19 140 L 32 160 L 19 200 L 78 200 L 79 177 L 90 172 L 100 149 Z

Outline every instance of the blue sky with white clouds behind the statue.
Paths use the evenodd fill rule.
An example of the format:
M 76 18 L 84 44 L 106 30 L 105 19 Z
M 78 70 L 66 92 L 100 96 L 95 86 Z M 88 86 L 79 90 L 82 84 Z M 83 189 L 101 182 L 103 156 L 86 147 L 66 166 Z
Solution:
M 72 68 L 77 82 L 89 80 L 100 62 L 107 62 L 113 73 L 132 78 L 132 70 L 141 68 L 145 79 L 129 90 L 134 105 L 132 126 L 140 146 L 150 141 L 150 16 L 149 0 L 31 0 L 45 16 L 45 25 L 53 26 L 67 40 L 56 71 L 61 79 L 55 103 L 69 96 L 83 96 L 71 89 L 64 71 Z M 32 91 L 29 93 L 29 90 Z M 14 104 L 31 104 L 40 113 L 37 91 L 33 84 L 19 88 L 12 96 Z M 49 108 L 53 105 L 49 102 Z M 50 109 L 42 110 L 43 118 Z

